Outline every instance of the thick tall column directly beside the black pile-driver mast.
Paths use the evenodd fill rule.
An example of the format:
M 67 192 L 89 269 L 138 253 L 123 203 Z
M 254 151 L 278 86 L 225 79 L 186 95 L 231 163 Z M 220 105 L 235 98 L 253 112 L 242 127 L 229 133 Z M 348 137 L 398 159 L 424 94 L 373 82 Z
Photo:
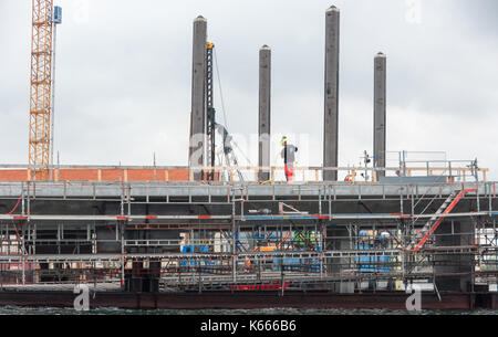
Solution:
M 197 17 L 194 20 L 194 45 L 191 69 L 191 113 L 188 166 L 194 179 L 201 180 L 200 167 L 204 166 L 206 146 L 206 42 L 207 20 Z

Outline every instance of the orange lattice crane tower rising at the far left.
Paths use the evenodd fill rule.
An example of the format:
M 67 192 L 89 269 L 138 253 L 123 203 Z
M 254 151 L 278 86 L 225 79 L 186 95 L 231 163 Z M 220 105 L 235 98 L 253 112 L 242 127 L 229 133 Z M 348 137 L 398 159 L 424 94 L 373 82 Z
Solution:
M 29 165 L 31 179 L 46 180 L 52 109 L 52 0 L 32 0 Z

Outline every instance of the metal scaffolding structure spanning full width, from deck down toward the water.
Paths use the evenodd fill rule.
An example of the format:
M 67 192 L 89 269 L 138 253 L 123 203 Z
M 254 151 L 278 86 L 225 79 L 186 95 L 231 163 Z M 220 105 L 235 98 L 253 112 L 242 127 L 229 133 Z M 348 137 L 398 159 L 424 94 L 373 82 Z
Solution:
M 32 180 L 0 182 L 0 196 L 1 288 L 355 293 L 418 283 L 439 293 L 498 283 L 496 182 Z

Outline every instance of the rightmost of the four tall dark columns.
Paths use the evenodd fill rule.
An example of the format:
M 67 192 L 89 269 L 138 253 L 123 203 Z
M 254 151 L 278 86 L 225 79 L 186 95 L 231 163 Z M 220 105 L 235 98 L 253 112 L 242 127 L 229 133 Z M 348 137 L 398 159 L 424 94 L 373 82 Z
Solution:
M 374 167 L 385 168 L 386 57 L 378 53 L 374 60 Z M 377 171 L 385 177 L 385 171 Z

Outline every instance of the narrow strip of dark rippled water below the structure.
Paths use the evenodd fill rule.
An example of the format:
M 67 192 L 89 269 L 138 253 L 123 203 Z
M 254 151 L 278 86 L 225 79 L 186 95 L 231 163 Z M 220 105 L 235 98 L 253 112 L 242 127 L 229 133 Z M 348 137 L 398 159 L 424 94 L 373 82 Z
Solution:
M 408 310 L 388 309 L 304 309 L 304 308 L 268 308 L 268 309 L 201 309 L 175 310 L 154 309 L 134 310 L 120 308 L 94 308 L 89 312 L 76 312 L 73 308 L 54 307 L 18 307 L 2 306 L 0 315 L 498 315 L 498 310 Z

